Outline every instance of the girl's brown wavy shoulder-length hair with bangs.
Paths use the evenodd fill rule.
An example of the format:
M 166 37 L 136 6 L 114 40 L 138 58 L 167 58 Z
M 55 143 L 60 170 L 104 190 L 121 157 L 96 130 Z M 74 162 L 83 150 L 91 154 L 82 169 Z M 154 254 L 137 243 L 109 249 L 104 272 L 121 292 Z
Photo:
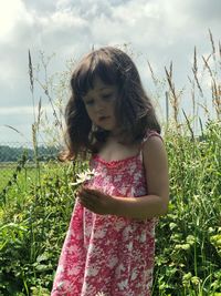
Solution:
M 101 48 L 84 57 L 71 78 L 72 95 L 65 109 L 65 159 L 77 155 L 85 159 L 88 153 L 97 153 L 109 134 L 94 127 L 83 102 L 97 76 L 118 89 L 115 114 L 122 143 L 140 142 L 148 129 L 160 133 L 155 110 L 131 59 L 117 48 Z

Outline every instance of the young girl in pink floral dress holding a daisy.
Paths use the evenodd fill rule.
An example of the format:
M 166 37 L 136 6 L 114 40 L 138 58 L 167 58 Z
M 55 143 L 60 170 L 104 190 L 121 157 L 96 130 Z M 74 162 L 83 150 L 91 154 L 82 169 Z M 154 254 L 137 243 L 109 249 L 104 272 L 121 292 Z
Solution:
M 75 202 L 52 296 L 148 296 L 155 225 L 168 207 L 160 126 L 130 58 L 106 47 L 71 79 L 67 159 L 91 153 L 95 175 Z

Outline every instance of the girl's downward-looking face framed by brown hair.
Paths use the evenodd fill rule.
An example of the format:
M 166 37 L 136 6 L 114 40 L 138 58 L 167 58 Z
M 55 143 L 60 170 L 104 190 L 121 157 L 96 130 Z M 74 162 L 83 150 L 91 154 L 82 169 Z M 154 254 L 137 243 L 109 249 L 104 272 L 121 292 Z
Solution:
M 91 121 L 106 131 L 117 127 L 115 102 L 118 95 L 117 86 L 105 84 L 99 78 L 94 80 L 94 88 L 83 96 Z

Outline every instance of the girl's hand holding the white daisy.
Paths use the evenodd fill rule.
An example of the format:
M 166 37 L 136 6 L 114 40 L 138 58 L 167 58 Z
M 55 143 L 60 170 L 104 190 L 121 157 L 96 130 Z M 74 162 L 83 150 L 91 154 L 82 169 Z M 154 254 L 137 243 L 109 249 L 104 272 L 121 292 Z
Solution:
M 114 214 L 116 197 L 105 194 L 98 190 L 82 187 L 78 192 L 78 198 L 83 206 L 96 214 Z

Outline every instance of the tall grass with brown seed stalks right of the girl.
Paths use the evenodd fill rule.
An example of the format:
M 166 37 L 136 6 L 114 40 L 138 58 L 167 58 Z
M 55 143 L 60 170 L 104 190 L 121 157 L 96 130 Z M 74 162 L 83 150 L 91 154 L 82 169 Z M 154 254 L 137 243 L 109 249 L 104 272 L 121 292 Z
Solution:
M 172 81 L 172 63 L 169 70 L 165 69 L 173 110 L 165 134 L 170 205 L 157 229 L 152 295 L 221 293 L 221 47 L 219 43 L 217 49 L 210 31 L 209 37 L 212 52 L 208 57 L 199 61 L 194 48 L 193 78 L 189 76 L 191 116 L 180 108 L 183 93 L 176 90 Z M 209 105 L 214 110 L 213 115 Z M 199 116 L 200 108 L 206 118 L 204 126 Z M 180 111 L 185 122 L 179 120 Z M 196 129 L 197 121 L 200 132 Z

